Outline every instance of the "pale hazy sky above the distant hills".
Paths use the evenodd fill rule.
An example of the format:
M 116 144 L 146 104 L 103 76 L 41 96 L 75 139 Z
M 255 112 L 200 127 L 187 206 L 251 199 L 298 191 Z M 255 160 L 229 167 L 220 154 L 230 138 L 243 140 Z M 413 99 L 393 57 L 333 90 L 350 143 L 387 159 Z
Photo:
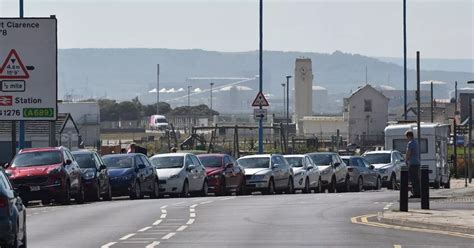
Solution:
M 24 0 L 59 48 L 258 49 L 258 0 Z M 264 0 L 264 49 L 403 57 L 402 0 Z M 407 0 L 408 57 L 474 58 L 474 0 Z M 0 0 L 0 16 L 18 0 Z

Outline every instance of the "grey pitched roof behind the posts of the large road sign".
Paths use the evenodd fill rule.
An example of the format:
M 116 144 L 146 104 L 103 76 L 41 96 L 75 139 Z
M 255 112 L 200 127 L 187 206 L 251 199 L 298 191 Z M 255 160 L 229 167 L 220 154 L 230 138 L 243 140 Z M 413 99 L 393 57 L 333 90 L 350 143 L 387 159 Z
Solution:
M 58 113 L 56 119 L 56 134 L 62 134 L 68 122 L 73 124 L 74 130 L 79 134 L 79 128 L 69 113 Z M 17 133 L 20 128 L 17 122 Z M 12 129 L 11 121 L 0 121 L 0 135 L 10 135 Z M 25 121 L 25 134 L 27 135 L 48 135 L 49 121 Z

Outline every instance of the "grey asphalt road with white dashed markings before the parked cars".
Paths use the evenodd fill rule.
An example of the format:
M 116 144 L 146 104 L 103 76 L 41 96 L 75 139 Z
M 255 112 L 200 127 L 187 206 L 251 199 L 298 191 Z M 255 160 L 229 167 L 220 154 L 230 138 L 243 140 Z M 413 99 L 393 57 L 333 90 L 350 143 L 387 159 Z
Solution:
M 32 248 L 474 247 L 472 239 L 351 223 L 396 208 L 397 197 L 382 190 L 32 207 L 28 242 Z

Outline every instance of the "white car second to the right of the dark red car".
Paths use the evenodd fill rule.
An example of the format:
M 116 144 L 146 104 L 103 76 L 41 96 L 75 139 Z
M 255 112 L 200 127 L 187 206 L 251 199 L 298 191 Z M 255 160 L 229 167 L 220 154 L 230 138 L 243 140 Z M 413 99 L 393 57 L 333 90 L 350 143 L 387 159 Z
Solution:
M 303 193 L 311 193 L 311 190 L 315 193 L 322 191 L 319 169 L 308 155 L 285 155 L 284 157 L 293 168 L 295 190 L 301 189 Z

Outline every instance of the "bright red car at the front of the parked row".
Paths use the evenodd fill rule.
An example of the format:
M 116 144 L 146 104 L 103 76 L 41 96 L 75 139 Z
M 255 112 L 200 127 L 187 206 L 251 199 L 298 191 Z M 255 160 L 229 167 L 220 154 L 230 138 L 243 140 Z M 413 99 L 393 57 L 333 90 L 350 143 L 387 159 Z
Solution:
M 66 147 L 22 149 L 7 165 L 7 174 L 23 204 L 52 199 L 69 204 L 71 196 L 84 202 L 81 169 Z

